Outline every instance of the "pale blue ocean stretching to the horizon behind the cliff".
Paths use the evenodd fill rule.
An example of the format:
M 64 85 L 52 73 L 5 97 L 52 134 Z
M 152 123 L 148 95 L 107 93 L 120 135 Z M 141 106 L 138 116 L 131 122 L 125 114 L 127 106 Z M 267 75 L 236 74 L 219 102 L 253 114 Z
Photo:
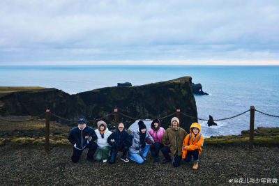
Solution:
M 42 86 L 69 94 L 131 82 L 133 86 L 191 76 L 209 95 L 195 95 L 198 118 L 228 118 L 255 106 L 279 116 L 279 65 L 83 65 L 0 66 L 0 86 Z M 177 108 L 179 109 L 179 108 Z M 109 111 L 110 112 L 110 111 Z M 183 112 L 183 110 L 181 110 Z M 184 116 L 183 116 L 184 117 Z M 182 117 L 182 119 L 183 119 Z M 147 118 L 146 118 L 147 119 Z M 150 127 L 151 122 L 145 122 Z M 249 130 L 250 112 L 208 127 L 204 137 Z M 255 128 L 279 127 L 279 118 L 255 112 Z M 130 130 L 137 128 L 137 122 Z

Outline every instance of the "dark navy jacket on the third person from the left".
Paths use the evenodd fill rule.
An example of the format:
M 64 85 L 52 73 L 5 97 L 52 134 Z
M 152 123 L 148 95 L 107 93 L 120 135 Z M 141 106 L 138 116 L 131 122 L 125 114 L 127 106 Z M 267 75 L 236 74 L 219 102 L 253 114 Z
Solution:
M 125 131 L 125 128 L 122 132 L 120 132 L 118 125 L 116 132 L 113 132 L 112 134 L 110 134 L 110 137 L 107 138 L 107 143 L 109 143 L 112 148 L 115 148 L 117 150 L 120 150 L 125 146 L 129 148 L 133 144 L 133 138 L 129 136 L 129 134 Z M 111 139 L 114 139 L 114 142 L 110 141 Z

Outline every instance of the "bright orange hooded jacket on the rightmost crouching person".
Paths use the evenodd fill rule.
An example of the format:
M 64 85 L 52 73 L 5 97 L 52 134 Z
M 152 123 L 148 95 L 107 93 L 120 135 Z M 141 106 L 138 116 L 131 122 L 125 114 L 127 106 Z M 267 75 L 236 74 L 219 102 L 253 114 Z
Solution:
M 199 138 L 199 141 L 197 141 L 197 137 L 199 137 L 199 133 L 197 133 L 197 136 L 195 138 L 195 140 L 193 141 L 193 138 L 195 137 L 195 134 L 192 132 L 192 128 L 193 127 L 197 127 L 199 129 L 199 133 L 201 131 L 201 127 L 199 125 L 199 123 L 192 123 L 191 127 L 190 127 L 190 133 L 192 135 L 191 139 L 189 139 L 190 134 L 188 134 L 185 139 L 183 140 L 183 144 L 182 144 L 182 158 L 185 158 L 187 155 L 187 151 L 192 151 L 192 150 L 196 150 L 199 149 L 199 154 L 202 153 L 202 142 L 204 141 L 204 137 Z M 188 144 L 188 146 L 186 146 Z M 183 149 L 183 146 L 186 146 L 186 150 Z

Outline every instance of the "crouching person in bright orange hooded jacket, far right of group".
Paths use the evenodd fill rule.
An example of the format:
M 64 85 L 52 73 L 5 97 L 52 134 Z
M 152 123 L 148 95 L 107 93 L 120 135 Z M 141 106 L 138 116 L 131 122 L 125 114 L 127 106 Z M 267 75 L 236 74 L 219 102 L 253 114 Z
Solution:
M 193 155 L 194 170 L 197 170 L 199 154 L 202 153 L 202 145 L 204 144 L 204 137 L 202 137 L 200 131 L 199 123 L 192 123 L 190 134 L 185 137 L 182 144 L 182 158 L 185 162 L 190 162 Z

